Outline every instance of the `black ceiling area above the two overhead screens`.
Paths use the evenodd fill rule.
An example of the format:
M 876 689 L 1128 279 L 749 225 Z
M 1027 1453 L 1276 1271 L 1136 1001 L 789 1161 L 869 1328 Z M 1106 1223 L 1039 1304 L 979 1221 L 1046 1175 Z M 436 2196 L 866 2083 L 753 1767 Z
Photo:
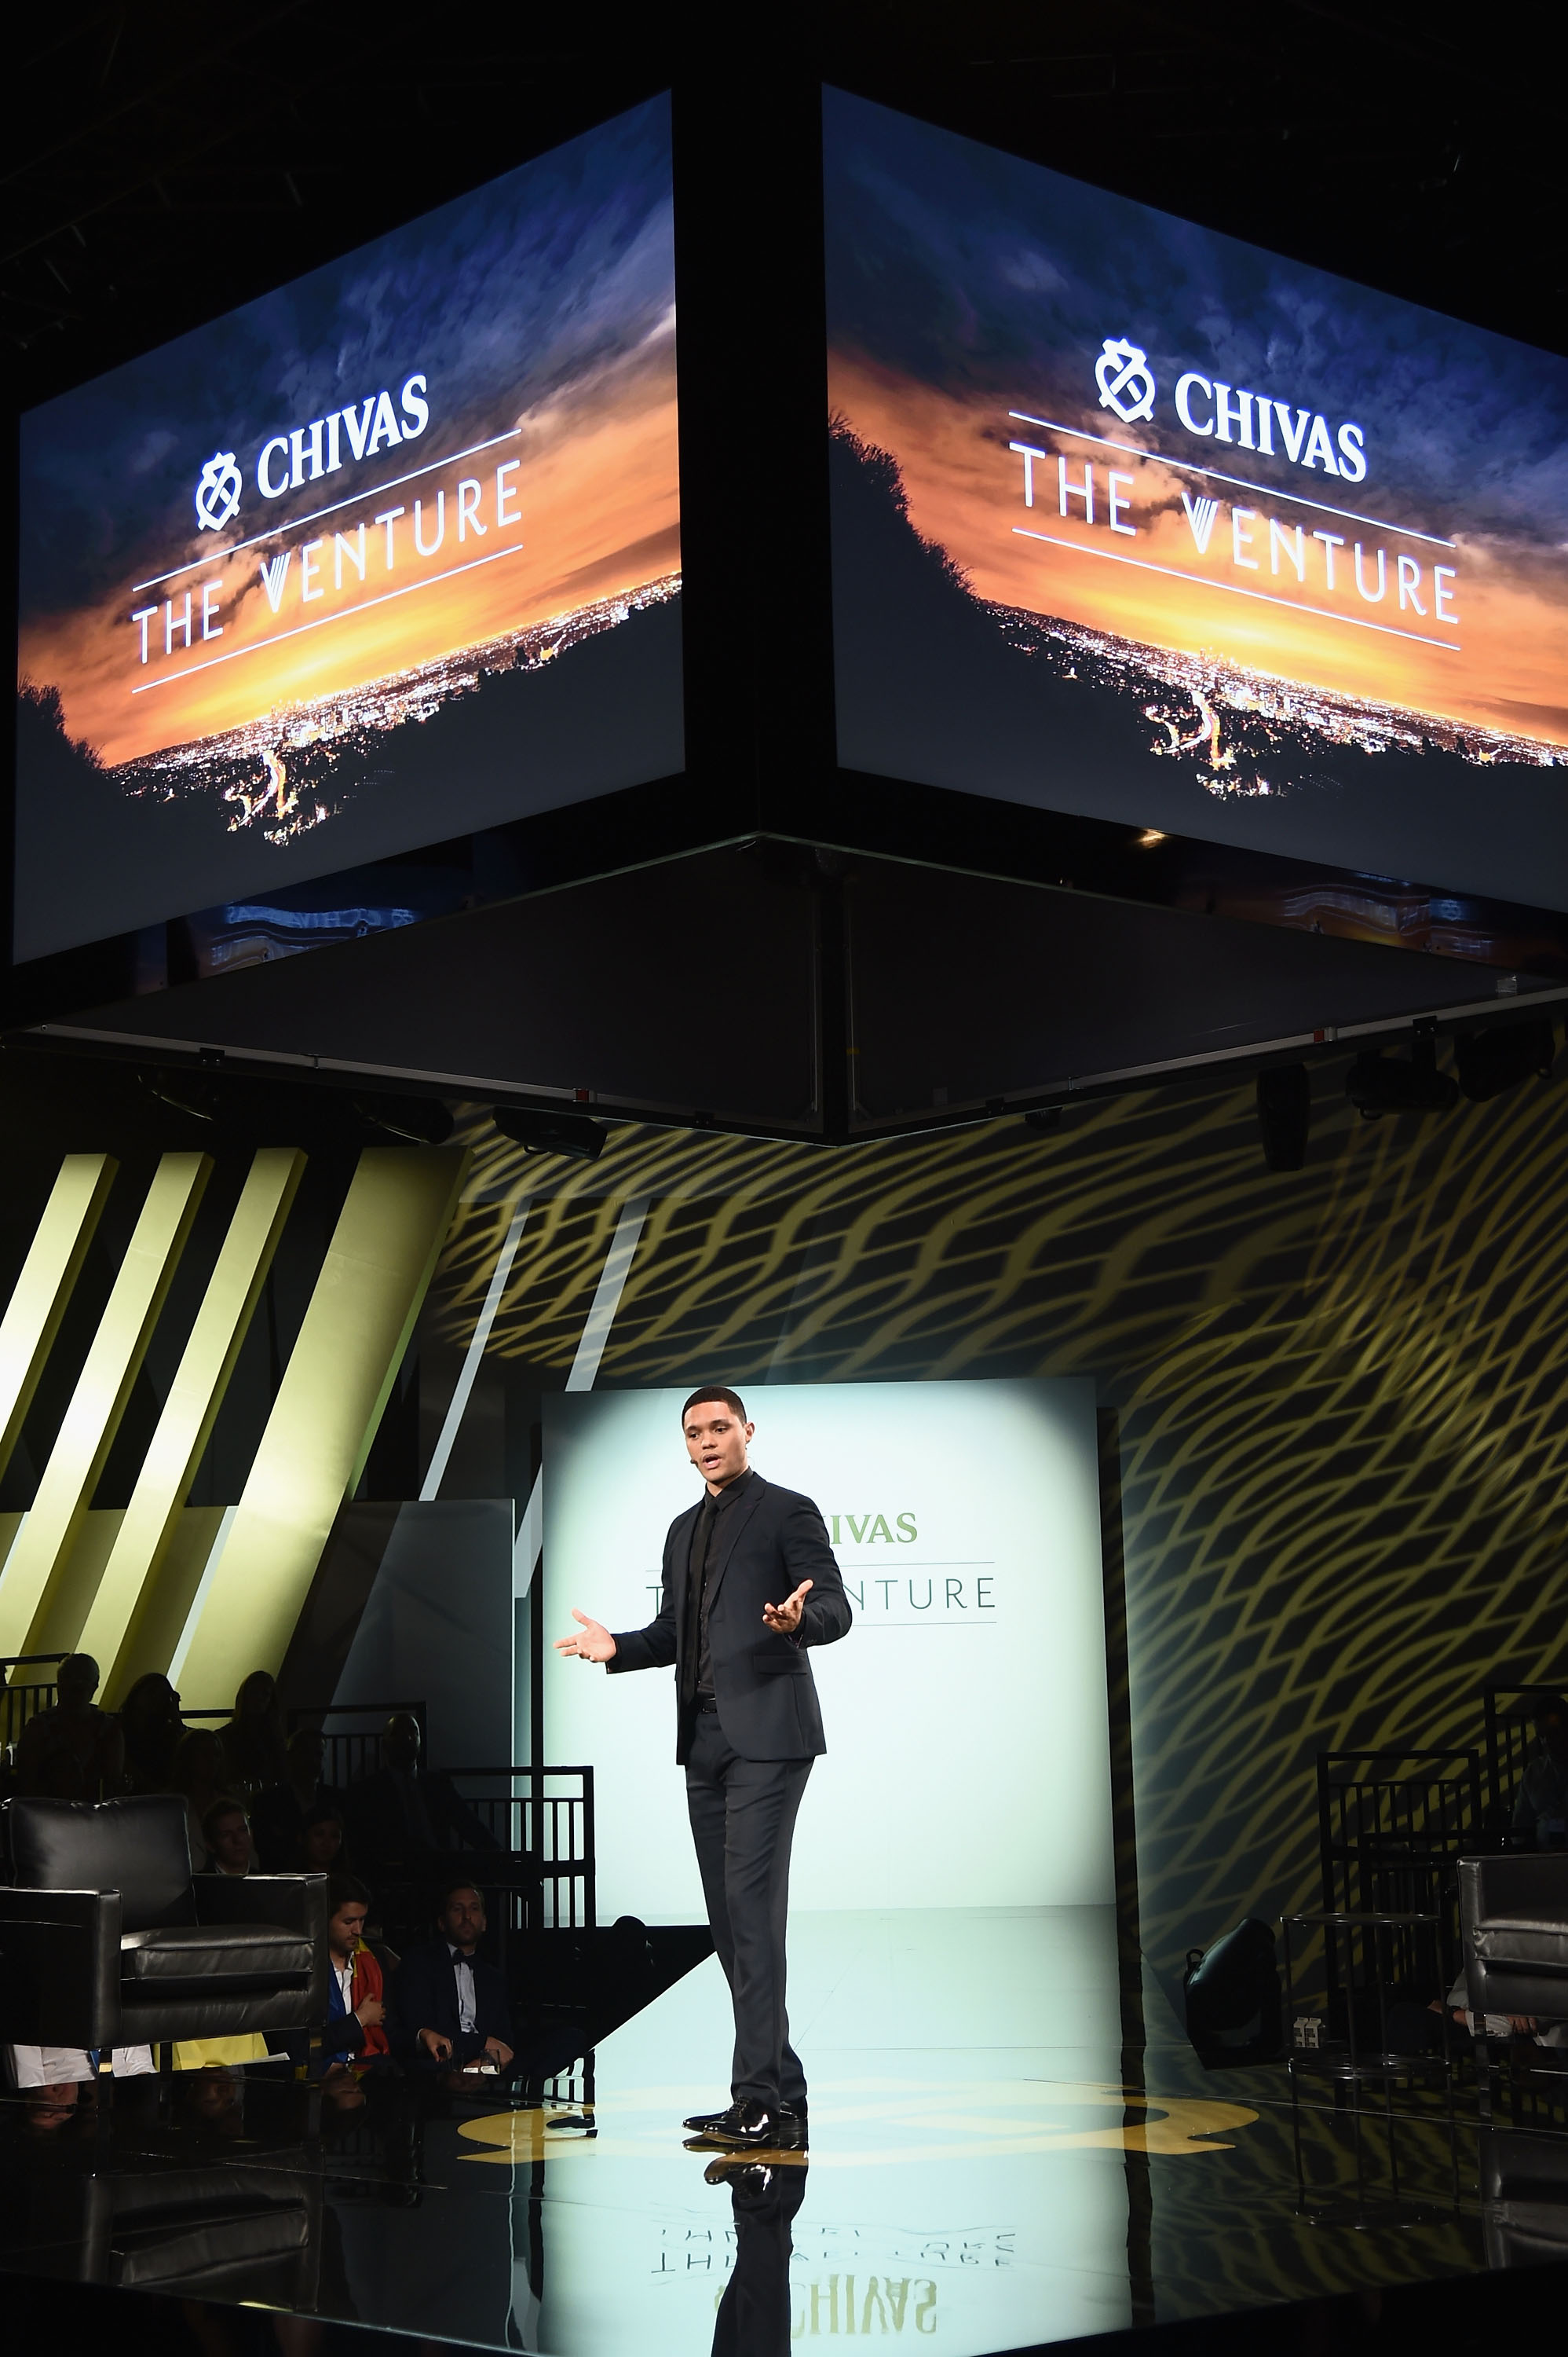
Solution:
M 0 321 L 45 398 L 636 97 L 829 78 L 1568 351 L 1561 12 L 836 0 L 49 7 L 12 24 Z M 744 191 L 737 191 L 744 205 Z

